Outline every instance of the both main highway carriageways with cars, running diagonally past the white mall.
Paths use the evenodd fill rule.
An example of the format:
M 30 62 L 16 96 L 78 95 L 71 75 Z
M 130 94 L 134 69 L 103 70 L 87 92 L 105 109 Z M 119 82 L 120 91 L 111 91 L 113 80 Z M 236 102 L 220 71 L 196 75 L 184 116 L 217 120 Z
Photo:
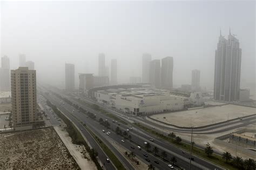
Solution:
M 62 95 L 64 95 L 64 94 L 62 94 Z M 69 100 L 71 100 L 72 103 L 82 106 L 82 104 L 78 103 L 76 100 L 73 100 L 72 98 L 69 98 L 68 96 L 65 96 L 65 97 L 68 98 Z M 55 101 L 53 100 L 53 103 L 55 103 L 55 104 L 59 103 L 60 99 L 58 99 L 56 96 L 52 96 L 51 98 L 55 98 Z M 58 107 L 70 107 L 70 108 L 65 108 L 65 109 L 68 111 L 73 110 L 73 107 L 69 106 L 68 104 L 65 104 L 65 106 L 58 106 Z M 88 108 L 84 105 L 82 107 L 86 110 L 89 110 L 92 113 L 97 114 L 97 117 L 100 116 L 104 120 L 109 119 L 104 114 L 101 114 L 95 110 L 92 110 L 91 108 Z M 119 135 L 117 135 L 114 132 L 111 133 L 109 136 L 107 136 L 106 134 L 102 134 L 102 130 L 104 127 L 96 121 L 91 121 L 91 120 L 88 121 L 88 119 L 90 119 L 90 118 L 87 118 L 86 115 L 84 115 L 83 113 L 74 112 L 73 114 L 75 114 L 79 120 L 84 121 L 86 123 L 86 125 L 88 124 L 90 128 L 96 128 L 95 131 L 98 132 L 97 135 L 100 135 L 102 138 L 106 139 L 106 141 L 111 141 L 109 139 L 109 138 L 111 138 L 113 142 L 116 142 L 119 145 L 123 145 L 126 149 L 130 149 L 131 151 L 135 152 L 140 158 L 143 158 L 143 160 L 144 160 L 143 154 L 145 151 L 138 151 L 138 149 L 132 149 L 131 146 L 134 145 L 134 142 L 136 143 L 136 145 L 134 145 L 135 148 L 137 148 L 137 145 L 144 146 L 144 144 L 143 144 L 144 141 L 151 142 L 151 141 L 149 141 L 149 139 L 154 138 L 155 140 L 154 140 L 154 142 L 151 142 L 151 146 L 152 147 L 157 146 L 159 148 L 159 155 L 160 155 L 161 151 L 166 151 L 167 152 L 167 157 L 165 158 L 166 160 L 170 160 L 172 157 L 176 157 L 178 160 L 177 165 L 179 165 L 180 167 L 183 167 L 185 169 L 189 168 L 189 159 L 188 159 L 189 154 L 187 152 L 184 152 L 182 149 L 179 149 L 176 146 L 173 146 L 161 139 L 157 139 L 156 137 L 152 136 L 151 134 L 147 134 L 146 132 L 133 127 L 134 130 L 129 132 L 130 135 L 132 136 L 133 142 L 130 142 L 129 140 L 125 140 L 125 142 L 122 142 L 121 141 L 122 137 L 120 137 Z M 118 126 L 118 125 L 112 124 L 110 127 L 113 128 L 113 130 L 114 130 L 116 128 L 116 126 Z M 131 126 L 131 125 L 129 125 L 129 126 Z M 127 128 L 129 128 L 129 126 L 120 124 L 119 127 L 122 128 L 122 130 L 126 130 Z M 150 155 L 149 153 L 147 153 L 147 154 Z M 192 161 L 192 169 L 215 169 L 215 168 L 221 169 L 221 167 L 211 164 L 211 162 L 208 162 L 204 159 L 201 159 L 201 158 L 198 158 L 195 156 L 193 156 L 193 157 L 194 157 L 194 161 Z M 153 164 L 155 167 L 157 167 L 159 169 L 168 169 L 169 163 L 163 161 L 159 157 L 156 157 L 155 155 L 150 155 L 149 159 L 151 160 L 150 163 Z M 155 164 L 154 163 L 155 160 L 157 160 L 159 162 L 159 164 Z

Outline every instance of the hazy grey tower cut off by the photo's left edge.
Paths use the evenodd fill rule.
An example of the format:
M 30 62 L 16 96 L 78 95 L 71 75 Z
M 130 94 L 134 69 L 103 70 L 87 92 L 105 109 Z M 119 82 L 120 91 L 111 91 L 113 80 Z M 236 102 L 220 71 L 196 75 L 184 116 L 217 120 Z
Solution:
M 10 60 L 7 56 L 1 58 L 0 91 L 10 91 Z

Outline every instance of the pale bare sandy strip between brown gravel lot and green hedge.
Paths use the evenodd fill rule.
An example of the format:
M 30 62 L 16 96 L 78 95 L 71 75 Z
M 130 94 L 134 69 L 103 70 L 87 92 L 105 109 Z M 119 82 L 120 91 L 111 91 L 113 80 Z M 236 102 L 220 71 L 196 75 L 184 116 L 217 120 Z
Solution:
M 86 149 L 82 146 L 72 144 L 72 139 L 69 137 L 68 132 L 61 127 L 54 127 L 56 132 L 58 133 L 60 139 L 64 142 L 65 146 L 68 148 L 70 154 L 73 158 L 75 158 L 77 164 L 81 169 L 97 169 L 96 165 L 92 160 L 87 160 L 86 158 L 90 158 L 89 154 L 86 153 L 84 158 L 83 153 L 86 152 Z

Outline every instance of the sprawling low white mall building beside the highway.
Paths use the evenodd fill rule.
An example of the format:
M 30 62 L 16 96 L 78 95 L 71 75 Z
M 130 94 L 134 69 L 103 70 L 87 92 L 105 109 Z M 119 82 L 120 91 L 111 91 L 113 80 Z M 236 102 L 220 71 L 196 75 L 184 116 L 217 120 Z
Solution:
M 145 115 L 161 112 L 177 111 L 190 105 L 186 97 L 173 96 L 167 91 L 97 91 L 99 103 L 106 103 L 125 113 Z

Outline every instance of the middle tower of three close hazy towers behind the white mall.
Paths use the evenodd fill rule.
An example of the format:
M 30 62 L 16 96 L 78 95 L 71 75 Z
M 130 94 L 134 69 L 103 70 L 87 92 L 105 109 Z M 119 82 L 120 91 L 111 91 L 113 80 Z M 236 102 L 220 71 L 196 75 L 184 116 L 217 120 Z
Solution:
M 150 78 L 149 82 L 152 86 L 160 88 L 160 60 L 154 59 L 150 62 Z

